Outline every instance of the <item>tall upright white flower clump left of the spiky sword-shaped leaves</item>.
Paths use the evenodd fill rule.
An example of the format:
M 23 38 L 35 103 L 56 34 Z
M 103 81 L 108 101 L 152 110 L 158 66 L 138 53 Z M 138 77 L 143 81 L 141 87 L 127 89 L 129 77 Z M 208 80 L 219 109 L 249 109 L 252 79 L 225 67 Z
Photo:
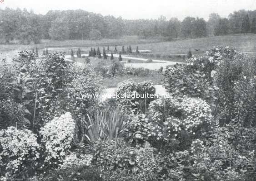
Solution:
M 75 121 L 69 112 L 56 117 L 41 129 L 42 142 L 45 143 L 45 162 L 57 165 L 63 162 L 75 134 Z

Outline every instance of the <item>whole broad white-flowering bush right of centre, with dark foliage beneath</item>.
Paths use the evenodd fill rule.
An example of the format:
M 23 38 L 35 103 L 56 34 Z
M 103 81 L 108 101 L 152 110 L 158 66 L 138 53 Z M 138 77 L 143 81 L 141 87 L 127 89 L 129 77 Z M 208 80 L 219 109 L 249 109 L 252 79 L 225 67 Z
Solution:
M 158 148 L 188 148 L 194 138 L 201 138 L 212 129 L 210 105 L 199 98 L 154 100 L 149 106 L 149 118 L 151 133 L 148 136 Z

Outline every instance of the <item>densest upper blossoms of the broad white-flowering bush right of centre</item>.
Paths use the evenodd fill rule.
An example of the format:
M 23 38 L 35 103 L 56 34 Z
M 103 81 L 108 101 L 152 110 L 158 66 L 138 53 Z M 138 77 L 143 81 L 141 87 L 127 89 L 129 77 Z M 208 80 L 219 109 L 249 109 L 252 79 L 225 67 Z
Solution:
M 158 99 L 151 102 L 149 112 L 153 123 L 171 122 L 176 132 L 181 128 L 193 132 L 201 124 L 211 124 L 211 109 L 205 100 L 183 97 Z

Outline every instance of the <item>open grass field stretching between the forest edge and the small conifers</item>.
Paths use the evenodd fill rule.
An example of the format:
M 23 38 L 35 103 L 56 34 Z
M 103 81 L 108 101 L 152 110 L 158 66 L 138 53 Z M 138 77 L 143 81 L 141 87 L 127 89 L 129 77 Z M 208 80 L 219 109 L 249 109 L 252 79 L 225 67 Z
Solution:
M 159 42 L 160 40 L 139 40 L 136 36 L 125 36 L 120 39 L 102 39 L 102 40 L 66 40 L 66 41 L 52 41 L 42 40 L 38 45 L 0 45 L 0 58 L 11 58 L 18 51 L 35 47 L 40 48 L 39 54 L 42 54 L 43 48 L 48 47 L 49 52 L 66 52 L 70 54 L 71 48 L 76 51 L 80 48 L 81 51 L 88 52 L 91 47 L 97 48 L 110 45 L 110 51 L 114 50 L 114 46 L 117 46 L 117 50 L 120 51 L 122 46 L 131 45 L 133 51 L 136 49 L 136 45 L 139 49 L 149 49 L 153 54 L 187 54 L 191 48 L 193 54 L 204 53 L 206 50 L 213 48 L 214 46 L 234 46 L 241 52 L 256 51 L 256 34 L 234 34 L 217 37 L 206 37 L 197 39 L 177 40 L 173 42 Z M 200 51 L 195 51 L 200 49 Z

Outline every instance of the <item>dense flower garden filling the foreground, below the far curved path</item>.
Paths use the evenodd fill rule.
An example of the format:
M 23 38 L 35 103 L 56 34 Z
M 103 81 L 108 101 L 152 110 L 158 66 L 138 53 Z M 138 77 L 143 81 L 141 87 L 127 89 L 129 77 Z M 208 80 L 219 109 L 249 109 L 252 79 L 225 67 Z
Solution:
M 161 71 L 85 58 L 22 51 L 0 68 L 1 181 L 256 180 L 254 57 L 215 47 Z M 81 96 L 107 80 L 173 96 Z

